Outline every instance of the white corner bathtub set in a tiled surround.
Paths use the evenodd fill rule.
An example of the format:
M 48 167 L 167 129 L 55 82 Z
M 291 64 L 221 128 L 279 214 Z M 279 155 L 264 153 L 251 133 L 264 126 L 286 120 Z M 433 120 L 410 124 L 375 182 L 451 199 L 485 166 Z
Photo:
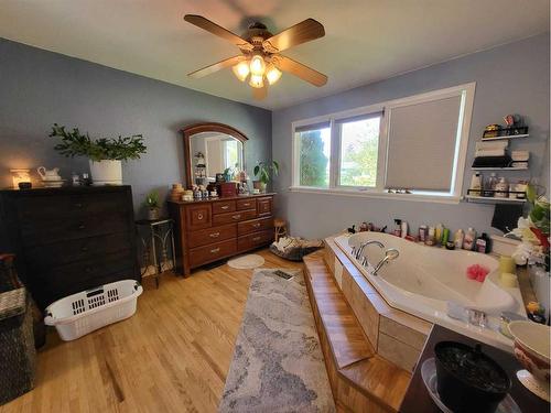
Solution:
M 396 248 L 400 256 L 385 264 L 374 275 L 374 267 L 385 257 L 385 249 L 370 244 L 364 249 L 366 267 L 352 254 L 352 248 L 367 240 L 379 241 L 385 249 Z M 504 311 L 523 314 L 518 287 L 506 289 L 499 283 L 499 262 L 494 257 L 464 250 L 449 251 L 407 241 L 388 233 L 359 232 L 335 238 L 361 274 L 385 301 L 395 308 L 440 324 L 479 341 L 512 351 L 512 340 L 497 332 Z M 490 272 L 484 282 L 469 280 L 466 269 L 480 264 Z M 487 314 L 488 327 L 479 327 L 447 315 L 449 303 L 475 308 Z

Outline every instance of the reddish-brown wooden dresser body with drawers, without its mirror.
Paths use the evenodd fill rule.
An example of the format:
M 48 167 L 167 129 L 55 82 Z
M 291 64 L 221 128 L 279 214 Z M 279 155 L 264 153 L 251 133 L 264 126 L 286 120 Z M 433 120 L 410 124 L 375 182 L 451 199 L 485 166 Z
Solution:
M 194 268 L 272 242 L 273 195 L 169 202 L 177 270 L 188 275 Z

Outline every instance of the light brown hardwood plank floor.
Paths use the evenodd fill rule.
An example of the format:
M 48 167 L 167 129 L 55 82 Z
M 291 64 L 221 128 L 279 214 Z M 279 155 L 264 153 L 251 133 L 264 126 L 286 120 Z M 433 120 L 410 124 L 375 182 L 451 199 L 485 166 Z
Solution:
M 302 268 L 262 250 L 266 268 Z M 137 314 L 75 341 L 50 332 L 35 389 L 7 412 L 215 412 L 252 270 L 144 281 Z

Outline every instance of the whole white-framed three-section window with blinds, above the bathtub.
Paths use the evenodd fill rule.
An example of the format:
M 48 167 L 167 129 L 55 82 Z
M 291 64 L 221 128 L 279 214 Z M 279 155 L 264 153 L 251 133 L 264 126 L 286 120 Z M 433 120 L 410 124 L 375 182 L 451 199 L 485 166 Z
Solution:
M 291 189 L 458 202 L 474 91 L 473 83 L 294 122 Z

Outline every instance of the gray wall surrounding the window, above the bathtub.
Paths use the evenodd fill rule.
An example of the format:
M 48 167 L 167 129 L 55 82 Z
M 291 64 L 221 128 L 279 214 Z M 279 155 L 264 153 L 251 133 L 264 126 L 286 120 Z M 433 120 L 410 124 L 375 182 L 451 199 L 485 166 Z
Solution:
M 292 121 L 469 81 L 476 81 L 476 95 L 464 193 L 473 174 L 469 166 L 475 142 L 480 139 L 486 124 L 503 123 L 503 117 L 508 113 L 525 116 L 530 126 L 530 137 L 514 143 L 514 148 L 530 150 L 531 160 L 529 173 L 506 172 L 504 175 L 509 178 L 532 177 L 549 188 L 548 33 L 274 111 L 272 156 L 281 164 L 276 189 L 280 193 L 279 213 L 289 219 L 291 232 L 311 238 L 324 237 L 364 220 L 391 226 L 392 218 L 402 218 L 414 231 L 421 224 L 443 222 L 453 230 L 472 226 L 478 231 L 501 233 L 490 229 L 491 205 L 464 202 L 445 205 L 288 191 L 291 186 Z

